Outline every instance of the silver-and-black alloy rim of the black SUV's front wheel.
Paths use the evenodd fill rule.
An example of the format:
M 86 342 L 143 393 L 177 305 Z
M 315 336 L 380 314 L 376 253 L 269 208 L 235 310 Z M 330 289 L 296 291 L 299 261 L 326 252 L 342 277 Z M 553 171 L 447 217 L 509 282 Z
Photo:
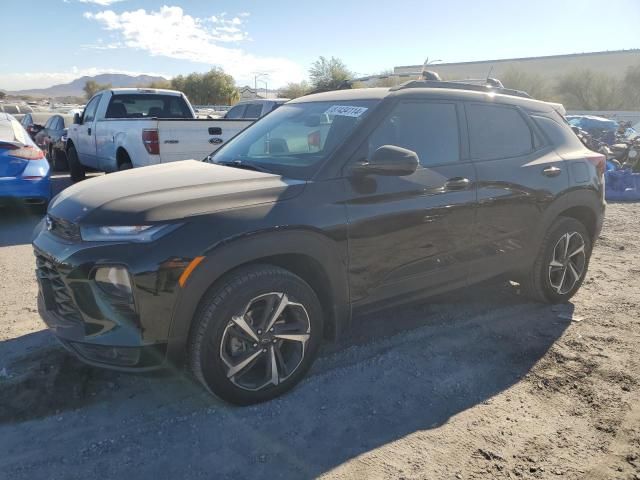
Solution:
M 302 304 L 282 292 L 254 297 L 222 333 L 220 358 L 227 378 L 250 391 L 279 385 L 302 363 L 310 337 Z

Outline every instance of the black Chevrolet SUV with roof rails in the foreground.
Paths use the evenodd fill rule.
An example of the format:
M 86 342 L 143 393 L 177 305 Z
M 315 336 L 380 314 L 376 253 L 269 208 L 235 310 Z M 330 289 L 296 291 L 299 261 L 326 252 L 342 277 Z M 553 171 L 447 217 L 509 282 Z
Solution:
M 358 311 L 498 275 L 567 301 L 602 226 L 604 161 L 519 92 L 299 98 L 207 161 L 58 195 L 34 240 L 40 313 L 91 364 L 185 362 L 229 402 L 264 401 Z

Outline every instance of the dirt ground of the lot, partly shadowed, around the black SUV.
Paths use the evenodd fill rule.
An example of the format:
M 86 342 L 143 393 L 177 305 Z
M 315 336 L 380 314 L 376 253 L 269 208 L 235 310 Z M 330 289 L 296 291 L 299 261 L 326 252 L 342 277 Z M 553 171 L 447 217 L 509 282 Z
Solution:
M 292 393 L 235 408 L 64 353 L 37 219 L 1 212 L 0 477 L 640 479 L 639 213 L 609 206 L 571 304 L 492 283 L 358 319 Z

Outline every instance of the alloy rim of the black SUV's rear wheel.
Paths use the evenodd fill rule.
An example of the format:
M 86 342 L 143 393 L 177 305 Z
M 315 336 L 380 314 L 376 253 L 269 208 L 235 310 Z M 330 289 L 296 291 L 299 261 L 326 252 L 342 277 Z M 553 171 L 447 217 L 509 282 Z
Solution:
M 578 232 L 565 233 L 553 248 L 549 284 L 558 295 L 569 293 L 582 278 L 587 263 L 585 242 Z

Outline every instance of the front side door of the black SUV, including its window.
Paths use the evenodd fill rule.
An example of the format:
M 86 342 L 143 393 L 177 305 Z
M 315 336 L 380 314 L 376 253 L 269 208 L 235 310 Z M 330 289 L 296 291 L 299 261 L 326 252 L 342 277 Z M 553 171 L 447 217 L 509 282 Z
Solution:
M 420 160 L 409 176 L 351 175 L 345 182 L 356 306 L 465 284 L 476 191 L 463 117 L 453 101 L 400 100 L 352 159 L 395 145 Z

